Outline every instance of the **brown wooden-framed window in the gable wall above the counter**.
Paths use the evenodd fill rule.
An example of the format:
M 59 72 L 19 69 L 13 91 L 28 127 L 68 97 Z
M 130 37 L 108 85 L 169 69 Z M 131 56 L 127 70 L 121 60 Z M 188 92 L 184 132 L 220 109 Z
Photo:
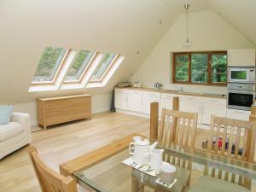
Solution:
M 227 83 L 227 52 L 173 53 L 172 82 L 178 84 Z

